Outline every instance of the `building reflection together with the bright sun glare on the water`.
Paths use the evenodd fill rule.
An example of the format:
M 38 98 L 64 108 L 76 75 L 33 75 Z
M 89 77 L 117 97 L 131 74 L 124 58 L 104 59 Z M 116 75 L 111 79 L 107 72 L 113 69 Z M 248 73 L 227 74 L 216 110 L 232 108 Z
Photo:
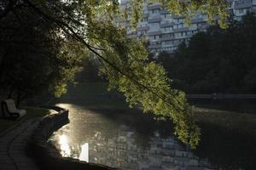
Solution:
M 121 167 L 127 170 L 201 170 L 210 169 L 209 163 L 194 156 L 189 149 L 183 147 L 174 137 L 160 138 L 154 133 L 148 141 L 137 133 L 129 131 L 125 126 L 114 129 L 115 134 L 106 137 L 105 133 L 96 131 L 88 139 L 78 144 L 66 134 L 54 136 L 56 146 L 62 156 L 70 156 L 81 161 L 90 161 Z M 114 131 L 113 130 L 113 131 Z M 142 145 L 146 144 L 148 145 Z

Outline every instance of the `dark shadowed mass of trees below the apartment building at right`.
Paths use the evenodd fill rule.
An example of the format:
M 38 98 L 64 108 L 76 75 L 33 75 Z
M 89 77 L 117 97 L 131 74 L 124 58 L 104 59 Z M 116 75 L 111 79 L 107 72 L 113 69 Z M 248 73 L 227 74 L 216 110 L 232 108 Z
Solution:
M 212 26 L 182 43 L 175 57 L 160 54 L 172 85 L 188 93 L 256 93 L 256 17 L 230 20 L 228 29 Z

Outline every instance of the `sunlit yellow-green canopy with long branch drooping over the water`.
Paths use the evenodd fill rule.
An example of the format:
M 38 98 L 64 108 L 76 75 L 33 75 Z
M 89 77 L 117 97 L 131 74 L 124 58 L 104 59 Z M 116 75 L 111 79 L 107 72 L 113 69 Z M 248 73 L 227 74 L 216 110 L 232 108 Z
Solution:
M 218 14 L 220 25 L 225 27 L 228 3 L 224 0 L 157 2 L 188 19 L 201 11 L 207 13 L 212 22 Z M 131 0 L 131 15 L 135 22 L 143 14 L 143 3 L 144 0 Z M 0 20 L 10 15 L 15 20 L 23 20 L 19 13 L 37 18 L 38 25 L 32 29 L 42 31 L 46 28 L 49 35 L 60 38 L 61 47 L 67 49 L 56 45 L 55 49 L 61 54 L 94 54 L 102 65 L 100 74 L 107 77 L 109 88 L 118 88 L 131 106 L 140 104 L 144 111 L 171 118 L 178 139 L 192 148 L 198 144 L 200 129 L 193 121 L 185 94 L 170 87 L 163 66 L 148 60 L 143 40 L 127 38 L 125 29 L 117 25 L 117 19 L 124 15 L 120 14 L 118 0 L 3 0 L 0 7 Z M 65 58 L 61 61 L 65 62 Z

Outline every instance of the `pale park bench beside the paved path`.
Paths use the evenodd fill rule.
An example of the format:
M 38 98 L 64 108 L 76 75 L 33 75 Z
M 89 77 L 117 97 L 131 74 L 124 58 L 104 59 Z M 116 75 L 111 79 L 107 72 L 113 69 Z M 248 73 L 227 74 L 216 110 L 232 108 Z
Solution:
M 5 99 L 2 102 L 3 118 L 17 119 L 26 115 L 26 110 L 16 108 L 14 99 Z

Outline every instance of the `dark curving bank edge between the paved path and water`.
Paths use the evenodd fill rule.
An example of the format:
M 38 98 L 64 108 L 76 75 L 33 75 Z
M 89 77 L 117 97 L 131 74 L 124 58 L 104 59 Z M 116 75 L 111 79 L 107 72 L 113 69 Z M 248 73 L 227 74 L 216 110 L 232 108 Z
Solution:
M 44 116 L 38 127 L 32 133 L 27 144 L 27 152 L 38 163 L 41 169 L 76 169 L 76 170 L 115 170 L 117 168 L 104 165 L 79 161 L 70 157 L 62 157 L 59 150 L 47 141 L 51 134 L 68 123 L 68 110 L 61 107 L 51 107 L 58 113 Z

